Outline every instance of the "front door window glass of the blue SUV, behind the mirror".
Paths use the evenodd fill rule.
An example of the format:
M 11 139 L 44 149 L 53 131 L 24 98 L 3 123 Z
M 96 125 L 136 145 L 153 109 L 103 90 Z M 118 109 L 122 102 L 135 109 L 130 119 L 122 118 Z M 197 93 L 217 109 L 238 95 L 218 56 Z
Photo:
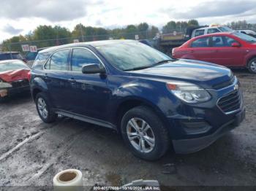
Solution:
M 83 48 L 73 49 L 71 59 L 72 71 L 82 71 L 82 67 L 90 63 L 100 64 L 99 59 L 90 50 Z

